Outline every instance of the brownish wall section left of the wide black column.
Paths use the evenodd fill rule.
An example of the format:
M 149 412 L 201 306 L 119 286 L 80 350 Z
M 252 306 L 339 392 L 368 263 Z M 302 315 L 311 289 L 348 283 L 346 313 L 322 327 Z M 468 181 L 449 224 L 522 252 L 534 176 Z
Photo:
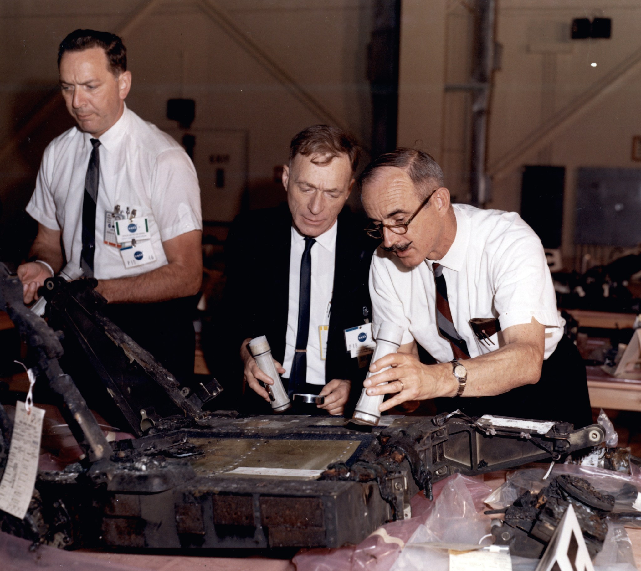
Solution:
M 28 201 L 46 144 L 72 124 L 58 94 L 37 114 L 56 90 L 56 50 L 69 31 L 122 33 L 133 74 L 127 103 L 144 119 L 176 131 L 167 99 L 187 97 L 196 100 L 194 132 L 248 133 L 252 192 L 278 193 L 257 196 L 264 204 L 281 199 L 274 166 L 306 126 L 333 122 L 369 147 L 371 26 L 363 0 L 1 0 L 4 221 Z

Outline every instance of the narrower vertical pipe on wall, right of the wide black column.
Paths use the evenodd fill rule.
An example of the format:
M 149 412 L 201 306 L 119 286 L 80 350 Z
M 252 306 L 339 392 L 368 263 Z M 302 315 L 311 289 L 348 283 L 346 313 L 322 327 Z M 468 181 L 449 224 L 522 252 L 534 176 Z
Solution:
M 494 20 L 496 0 L 476 0 L 474 10 L 474 54 L 472 56 L 472 142 L 470 196 L 475 206 L 491 199 L 487 162 L 488 114 L 494 68 Z

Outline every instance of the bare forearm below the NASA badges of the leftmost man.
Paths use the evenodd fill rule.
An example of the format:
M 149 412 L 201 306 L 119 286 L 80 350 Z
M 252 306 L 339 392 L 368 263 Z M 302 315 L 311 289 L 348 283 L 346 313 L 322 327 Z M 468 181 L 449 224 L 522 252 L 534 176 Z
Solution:
M 185 268 L 169 263 L 146 274 L 101 279 L 96 291 L 110 303 L 150 303 L 197 294 L 201 268 Z

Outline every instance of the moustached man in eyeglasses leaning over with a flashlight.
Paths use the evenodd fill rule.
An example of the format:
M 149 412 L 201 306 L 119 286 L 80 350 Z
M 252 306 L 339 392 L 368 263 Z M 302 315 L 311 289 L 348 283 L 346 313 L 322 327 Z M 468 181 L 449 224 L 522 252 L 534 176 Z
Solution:
M 540 239 L 519 215 L 451 204 L 438 164 L 413 149 L 374 160 L 360 185 L 366 232 L 383 238 L 370 268 L 374 336 L 382 321 L 405 328 L 399 353 L 372 363 L 364 383 L 395 393 L 381 411 L 436 399 L 439 411 L 475 417 L 590 424 L 585 366 L 563 335 Z

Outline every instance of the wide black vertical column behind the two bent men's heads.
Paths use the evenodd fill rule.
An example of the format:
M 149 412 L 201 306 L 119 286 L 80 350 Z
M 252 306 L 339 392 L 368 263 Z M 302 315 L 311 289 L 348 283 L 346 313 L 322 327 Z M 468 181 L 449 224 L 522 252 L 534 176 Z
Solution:
M 367 79 L 372 92 L 372 158 L 396 147 L 401 0 L 376 0 Z

